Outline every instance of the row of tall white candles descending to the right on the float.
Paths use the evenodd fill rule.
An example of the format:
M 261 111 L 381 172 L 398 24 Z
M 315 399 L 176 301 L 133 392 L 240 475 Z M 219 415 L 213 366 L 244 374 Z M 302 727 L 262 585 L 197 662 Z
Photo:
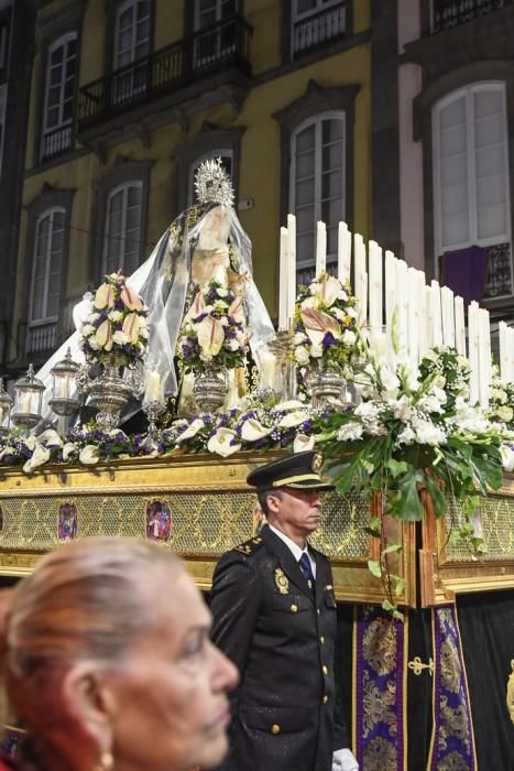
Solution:
M 462 297 L 448 286 L 433 280 L 426 283 L 425 273 L 408 267 L 393 252 L 385 256 L 375 241 L 368 245 L 360 234 L 349 231 L 346 222 L 338 226 L 337 276 L 350 281 L 353 246 L 353 294 L 362 326 L 371 328 L 384 324 L 392 328 L 395 321 L 398 345 L 408 351 L 414 362 L 435 346 L 451 346 L 468 356 L 471 368 L 470 401 L 489 403 L 492 380 L 491 326 L 489 312 L 472 302 L 468 308 L 468 346 Z M 326 271 L 327 228 L 317 222 L 316 276 Z M 385 308 L 384 308 L 385 298 Z M 287 216 L 287 227 L 281 228 L 278 328 L 288 330 L 294 317 L 296 300 L 296 219 Z M 514 380 L 514 330 L 500 325 L 500 365 L 503 380 Z

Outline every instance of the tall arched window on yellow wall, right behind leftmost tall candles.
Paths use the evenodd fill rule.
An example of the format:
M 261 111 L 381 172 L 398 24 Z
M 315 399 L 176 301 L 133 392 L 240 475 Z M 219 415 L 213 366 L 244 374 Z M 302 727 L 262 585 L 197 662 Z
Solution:
M 296 215 L 298 283 L 314 275 L 316 222 L 327 226 L 327 268 L 337 262 L 338 224 L 346 216 L 346 115 L 322 112 L 292 133 L 289 210 Z

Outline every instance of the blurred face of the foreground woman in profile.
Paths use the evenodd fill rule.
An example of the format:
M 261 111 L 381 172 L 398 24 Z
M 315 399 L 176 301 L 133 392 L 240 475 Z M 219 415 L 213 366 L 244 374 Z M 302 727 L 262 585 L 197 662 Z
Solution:
M 161 580 L 149 601 L 158 622 L 113 682 L 116 767 L 211 768 L 228 748 L 227 692 L 237 684 L 237 670 L 210 642 L 210 613 L 185 571 L 155 578 Z

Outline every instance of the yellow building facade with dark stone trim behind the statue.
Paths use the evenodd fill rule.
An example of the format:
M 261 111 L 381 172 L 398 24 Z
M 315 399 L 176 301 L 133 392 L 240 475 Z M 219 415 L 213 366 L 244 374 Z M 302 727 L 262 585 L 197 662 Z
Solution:
M 370 235 L 370 135 L 368 1 L 42 0 L 11 359 L 44 361 L 83 292 L 150 254 L 211 156 L 232 175 L 275 316 L 287 211 L 298 280 L 318 219 L 329 264 L 339 220 Z

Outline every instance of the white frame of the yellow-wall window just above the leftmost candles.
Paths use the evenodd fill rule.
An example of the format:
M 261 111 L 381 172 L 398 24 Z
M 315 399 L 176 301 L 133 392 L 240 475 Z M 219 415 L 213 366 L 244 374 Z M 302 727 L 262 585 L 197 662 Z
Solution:
M 321 159 L 321 149 L 322 144 L 318 140 L 321 139 L 321 131 L 322 131 L 322 123 L 326 120 L 341 120 L 342 121 L 342 202 L 343 202 L 343 211 L 340 215 L 340 219 L 338 221 L 347 221 L 347 211 L 348 211 L 348 169 L 347 169 L 347 143 L 348 143 L 348 115 L 347 110 L 345 109 L 336 109 L 336 110 L 322 110 L 321 112 L 318 112 L 314 116 L 310 116 L 303 120 L 300 123 L 298 123 L 297 127 L 291 132 L 289 137 L 289 180 L 288 180 L 288 210 L 292 211 L 293 214 L 296 215 L 296 205 L 295 205 L 295 198 L 296 198 L 296 140 L 298 134 L 302 131 L 305 131 L 305 129 L 309 128 L 309 126 L 315 126 L 315 167 L 314 167 L 314 224 L 313 224 L 313 234 L 314 234 L 314 248 L 313 248 L 313 257 L 311 260 L 308 262 L 298 262 L 296 261 L 296 271 L 299 270 L 306 270 L 310 267 L 315 265 L 316 261 L 316 222 L 321 220 L 321 206 L 322 206 L 322 200 L 321 200 L 321 177 L 322 177 L 322 159 Z M 329 224 L 326 222 L 328 226 Z M 336 224 L 337 225 L 337 224 Z M 335 227 L 333 225 L 330 224 L 330 227 Z M 337 258 L 337 252 L 335 254 L 331 254 L 327 252 L 327 263 L 332 262 L 332 258 Z

